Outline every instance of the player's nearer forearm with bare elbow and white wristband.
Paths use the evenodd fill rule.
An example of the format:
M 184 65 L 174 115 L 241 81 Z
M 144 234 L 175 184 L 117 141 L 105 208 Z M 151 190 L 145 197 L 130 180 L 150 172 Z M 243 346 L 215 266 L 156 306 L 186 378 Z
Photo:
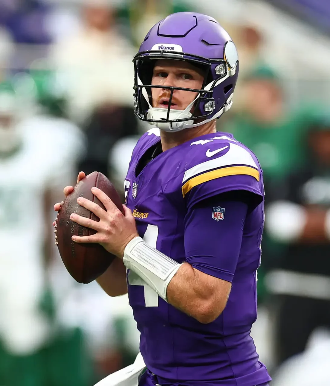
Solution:
M 227 302 L 230 283 L 198 271 L 187 262 L 179 264 L 140 237 L 127 244 L 124 264 L 161 298 L 201 323 L 217 318 Z

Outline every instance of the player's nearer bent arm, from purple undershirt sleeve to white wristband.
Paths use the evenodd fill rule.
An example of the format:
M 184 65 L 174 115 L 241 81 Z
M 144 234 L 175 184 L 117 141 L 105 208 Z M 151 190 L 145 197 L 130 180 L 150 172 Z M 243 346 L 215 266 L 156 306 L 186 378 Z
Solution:
M 218 206 L 225 208 L 227 216 L 215 222 L 212 211 Z M 210 323 L 227 304 L 247 209 L 247 203 L 224 196 L 203 201 L 185 218 L 185 262 L 180 264 L 136 237 L 125 247 L 124 264 L 168 303 L 201 323 Z

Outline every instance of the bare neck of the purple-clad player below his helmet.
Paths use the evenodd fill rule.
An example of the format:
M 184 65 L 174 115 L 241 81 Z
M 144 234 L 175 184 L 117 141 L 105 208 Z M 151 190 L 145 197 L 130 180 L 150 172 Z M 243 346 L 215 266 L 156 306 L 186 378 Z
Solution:
M 185 129 L 176 133 L 168 133 L 160 130 L 161 132 L 161 144 L 162 151 L 171 149 L 172 147 L 183 144 L 184 142 L 190 141 L 201 135 L 210 134 L 217 132 L 215 126 L 215 120 L 208 122 L 204 125 L 194 127 L 192 129 Z

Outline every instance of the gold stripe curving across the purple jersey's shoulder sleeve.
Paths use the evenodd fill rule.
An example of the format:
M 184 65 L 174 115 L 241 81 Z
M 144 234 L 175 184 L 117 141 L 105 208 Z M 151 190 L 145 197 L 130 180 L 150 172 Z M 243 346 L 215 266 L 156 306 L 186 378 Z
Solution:
M 239 174 L 252 176 L 257 181 L 259 181 L 259 170 L 251 168 L 250 166 L 230 166 L 227 168 L 208 171 L 206 173 L 200 174 L 199 176 L 191 178 L 182 186 L 182 195 L 184 197 L 194 186 L 200 185 L 203 182 L 211 181 L 212 179 L 225 176 L 236 176 Z

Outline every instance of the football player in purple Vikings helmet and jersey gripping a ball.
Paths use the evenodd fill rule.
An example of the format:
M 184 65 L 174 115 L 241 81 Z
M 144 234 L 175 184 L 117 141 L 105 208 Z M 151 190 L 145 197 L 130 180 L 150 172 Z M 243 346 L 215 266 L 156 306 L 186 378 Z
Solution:
M 77 201 L 100 222 L 71 215 L 97 231 L 75 242 L 99 243 L 118 257 L 97 280 L 110 296 L 128 288 L 141 333 L 144 363 L 137 357 L 100 384 L 266 385 L 271 378 L 250 337 L 262 171 L 215 124 L 232 104 L 235 44 L 212 17 L 176 13 L 152 27 L 133 62 L 135 113 L 155 127 L 133 151 L 125 215 L 97 188 L 106 210 Z

